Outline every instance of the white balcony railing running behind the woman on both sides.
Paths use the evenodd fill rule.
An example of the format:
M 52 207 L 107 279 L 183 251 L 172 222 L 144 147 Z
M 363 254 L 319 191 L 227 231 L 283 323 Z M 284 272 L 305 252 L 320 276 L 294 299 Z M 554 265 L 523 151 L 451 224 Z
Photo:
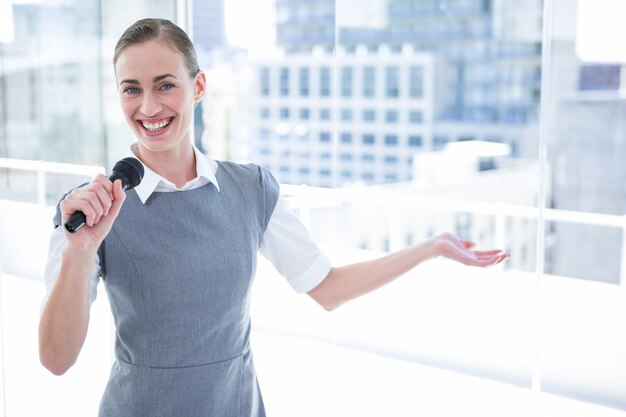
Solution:
M 89 179 L 96 174 L 104 173 L 103 167 L 74 165 L 47 161 L 0 158 L 0 169 L 30 171 L 37 174 L 37 204 L 46 206 L 47 176 L 49 174 L 70 174 L 84 176 Z M 75 184 L 68 184 L 68 188 Z M 404 246 L 394 233 L 401 230 L 399 217 L 394 215 L 400 208 L 415 210 L 435 210 L 449 213 L 470 213 L 487 215 L 494 219 L 494 246 L 505 247 L 505 224 L 507 218 L 542 220 L 545 222 L 564 222 L 586 226 L 603 226 L 622 231 L 619 282 L 626 286 L 626 215 L 589 213 L 572 210 L 539 208 L 506 204 L 500 202 L 482 202 L 455 200 L 449 198 L 429 198 L 417 195 L 401 195 L 383 189 L 330 189 L 301 185 L 284 184 L 281 186 L 283 195 L 292 200 L 303 223 L 310 225 L 311 210 L 315 208 L 331 208 L 340 204 L 367 204 L 389 209 L 390 250 L 398 250 Z

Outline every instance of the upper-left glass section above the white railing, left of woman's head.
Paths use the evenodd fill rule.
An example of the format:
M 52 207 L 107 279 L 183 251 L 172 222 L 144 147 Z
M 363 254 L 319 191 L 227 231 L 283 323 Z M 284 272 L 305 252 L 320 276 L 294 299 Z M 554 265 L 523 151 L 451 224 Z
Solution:
M 102 163 L 99 5 L 66 3 L 13 5 L 15 37 L 2 49 L 6 157 Z

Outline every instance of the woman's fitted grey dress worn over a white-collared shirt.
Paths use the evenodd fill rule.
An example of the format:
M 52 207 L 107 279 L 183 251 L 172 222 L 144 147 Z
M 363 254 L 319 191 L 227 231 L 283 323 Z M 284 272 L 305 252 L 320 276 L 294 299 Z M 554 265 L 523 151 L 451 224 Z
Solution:
M 100 417 L 265 416 L 249 346 L 250 288 L 278 184 L 218 162 L 201 188 L 127 192 L 99 250 L 116 361 Z

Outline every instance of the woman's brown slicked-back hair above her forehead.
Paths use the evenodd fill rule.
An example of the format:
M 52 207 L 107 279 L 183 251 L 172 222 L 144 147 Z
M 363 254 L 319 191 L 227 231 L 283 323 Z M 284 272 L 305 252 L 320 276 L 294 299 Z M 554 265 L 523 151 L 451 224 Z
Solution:
M 153 39 L 180 52 L 185 58 L 185 66 L 192 78 L 200 71 L 196 50 L 185 31 L 167 19 L 152 18 L 138 20 L 124 31 L 115 45 L 113 66 L 124 49 Z

